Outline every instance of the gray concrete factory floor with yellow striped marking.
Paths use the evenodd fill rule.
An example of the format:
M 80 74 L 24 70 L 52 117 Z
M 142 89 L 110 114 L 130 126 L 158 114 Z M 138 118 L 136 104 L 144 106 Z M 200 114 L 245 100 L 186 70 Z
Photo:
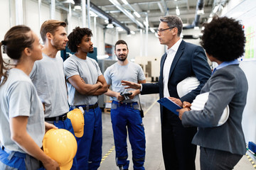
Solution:
M 146 170 L 164 170 L 164 161 L 161 152 L 161 125 L 158 94 L 150 94 L 141 96 L 142 108 L 144 110 L 144 128 L 146 134 L 146 159 L 144 167 Z M 99 170 L 117 170 L 115 164 L 114 138 L 112 133 L 112 124 L 110 113 L 102 113 L 102 163 Z M 128 159 L 130 160 L 129 169 L 132 168 L 132 152 L 128 145 Z M 235 170 L 254 170 L 251 162 L 246 156 L 242 157 L 240 162 L 235 166 Z M 196 170 L 200 170 L 199 164 L 199 149 L 196 155 Z

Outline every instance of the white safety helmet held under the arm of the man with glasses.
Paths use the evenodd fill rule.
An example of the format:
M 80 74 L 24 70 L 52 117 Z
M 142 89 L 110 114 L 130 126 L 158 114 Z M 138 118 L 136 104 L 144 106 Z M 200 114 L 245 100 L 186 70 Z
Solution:
M 186 79 L 183 79 L 183 81 L 179 82 L 177 84 L 177 92 L 178 96 L 181 98 L 191 92 L 193 89 L 196 89 L 200 82 L 196 77 L 187 77 Z

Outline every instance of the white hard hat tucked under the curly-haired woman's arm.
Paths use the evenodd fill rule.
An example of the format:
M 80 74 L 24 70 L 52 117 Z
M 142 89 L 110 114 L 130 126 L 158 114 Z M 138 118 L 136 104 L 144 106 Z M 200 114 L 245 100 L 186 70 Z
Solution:
M 199 94 L 198 96 L 196 96 L 196 98 L 191 103 L 191 110 L 192 111 L 203 110 L 204 106 L 206 105 L 206 101 L 208 101 L 208 96 L 209 96 L 209 92 Z M 223 114 L 220 117 L 220 120 L 218 121 L 217 126 L 223 125 L 228 120 L 228 116 L 229 116 L 229 107 L 226 106 L 223 111 Z

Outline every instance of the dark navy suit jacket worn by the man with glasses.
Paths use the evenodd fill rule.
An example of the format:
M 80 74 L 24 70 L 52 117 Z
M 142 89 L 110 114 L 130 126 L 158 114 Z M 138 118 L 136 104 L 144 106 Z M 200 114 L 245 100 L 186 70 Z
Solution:
M 164 97 L 163 67 L 166 56 L 167 54 L 165 53 L 161 57 L 159 82 L 156 84 L 143 84 L 141 94 L 159 93 L 160 98 Z M 170 68 L 168 81 L 170 96 L 179 98 L 176 89 L 177 84 L 187 77 L 196 76 L 198 81 L 200 81 L 200 85 L 180 98 L 182 102 L 188 101 L 191 103 L 193 99 L 196 98 L 196 95 L 200 93 L 203 85 L 206 84 L 210 74 L 210 66 L 207 62 L 206 53 L 204 52 L 203 47 L 182 40 Z M 163 106 L 161 106 L 161 113 L 162 111 Z

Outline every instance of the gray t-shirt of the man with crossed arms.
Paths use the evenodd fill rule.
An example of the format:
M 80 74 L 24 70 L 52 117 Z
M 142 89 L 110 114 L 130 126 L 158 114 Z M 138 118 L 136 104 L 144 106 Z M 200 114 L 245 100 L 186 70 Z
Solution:
M 75 90 L 75 87 L 70 84 L 68 78 L 74 75 L 79 75 L 86 84 L 96 84 L 100 72 L 99 64 L 90 57 L 86 60 L 80 59 L 75 55 L 68 57 L 64 62 L 65 76 L 68 86 L 68 102 L 70 106 L 92 105 L 98 101 L 98 96 L 86 96 Z

